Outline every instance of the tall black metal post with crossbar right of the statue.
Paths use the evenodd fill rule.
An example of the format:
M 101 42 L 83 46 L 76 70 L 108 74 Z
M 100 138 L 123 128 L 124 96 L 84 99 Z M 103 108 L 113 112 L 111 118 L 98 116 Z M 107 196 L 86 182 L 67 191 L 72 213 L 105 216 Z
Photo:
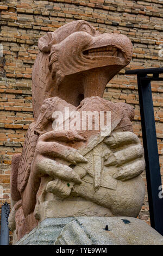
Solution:
M 158 144 L 152 100 L 151 80 L 161 80 L 163 69 L 129 70 L 126 74 L 137 74 L 143 147 L 145 150 L 146 178 L 151 226 L 163 235 L 163 198 L 159 197 L 161 186 Z M 153 74 L 153 77 L 147 77 Z

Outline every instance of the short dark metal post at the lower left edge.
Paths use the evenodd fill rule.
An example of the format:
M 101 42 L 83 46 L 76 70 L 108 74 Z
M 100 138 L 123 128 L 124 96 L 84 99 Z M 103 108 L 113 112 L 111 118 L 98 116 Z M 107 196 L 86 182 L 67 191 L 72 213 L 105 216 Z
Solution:
M 9 227 L 8 217 L 10 212 L 10 206 L 7 202 L 2 205 L 1 211 L 1 237 L 0 245 L 9 245 Z

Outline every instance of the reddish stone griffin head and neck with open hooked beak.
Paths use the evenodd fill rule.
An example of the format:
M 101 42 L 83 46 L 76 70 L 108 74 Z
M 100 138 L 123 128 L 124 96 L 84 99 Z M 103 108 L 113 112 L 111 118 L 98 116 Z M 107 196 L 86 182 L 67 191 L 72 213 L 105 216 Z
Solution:
M 39 39 L 33 79 L 34 115 L 42 101 L 58 96 L 78 106 L 85 97 L 102 97 L 106 84 L 132 56 L 125 35 L 101 34 L 86 21 L 73 21 Z

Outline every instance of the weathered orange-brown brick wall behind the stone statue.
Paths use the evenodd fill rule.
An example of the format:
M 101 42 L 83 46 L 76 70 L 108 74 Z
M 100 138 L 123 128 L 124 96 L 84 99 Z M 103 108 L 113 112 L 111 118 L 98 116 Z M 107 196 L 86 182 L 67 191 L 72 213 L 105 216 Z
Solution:
M 11 156 L 21 152 L 24 137 L 33 120 L 31 74 L 40 36 L 73 20 L 86 20 L 100 32 L 126 34 L 134 54 L 126 69 L 161 67 L 163 60 L 163 1 L 35 1 L 4 0 L 0 3 L 0 200 L 9 200 Z M 162 46 L 161 46 L 162 44 Z M 135 107 L 134 131 L 140 137 L 141 124 L 135 76 L 122 70 L 107 85 L 104 97 Z M 152 83 L 156 132 L 163 174 L 163 83 Z M 145 174 L 143 174 L 145 179 Z M 149 223 L 147 193 L 140 218 Z

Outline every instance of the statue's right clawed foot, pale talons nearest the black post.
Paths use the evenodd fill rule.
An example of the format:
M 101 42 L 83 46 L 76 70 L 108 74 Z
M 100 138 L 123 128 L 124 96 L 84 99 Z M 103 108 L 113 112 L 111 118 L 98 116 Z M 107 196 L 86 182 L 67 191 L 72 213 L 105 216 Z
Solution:
M 115 151 L 104 162 L 104 165 L 106 167 L 120 166 L 112 175 L 114 179 L 130 180 L 145 170 L 143 147 L 133 132 L 112 132 L 110 137 L 104 139 L 104 142 Z

